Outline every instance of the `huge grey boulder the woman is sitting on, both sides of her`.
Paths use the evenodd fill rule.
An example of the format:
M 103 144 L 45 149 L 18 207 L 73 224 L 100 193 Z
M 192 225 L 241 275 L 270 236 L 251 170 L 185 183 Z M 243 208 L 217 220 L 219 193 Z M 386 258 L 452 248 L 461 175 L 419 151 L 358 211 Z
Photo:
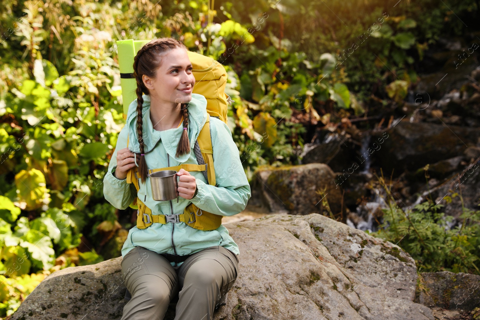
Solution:
M 317 213 L 268 215 L 228 229 L 240 271 L 216 320 L 433 320 L 413 302 L 414 260 L 390 242 Z M 120 261 L 50 274 L 11 320 L 120 319 Z

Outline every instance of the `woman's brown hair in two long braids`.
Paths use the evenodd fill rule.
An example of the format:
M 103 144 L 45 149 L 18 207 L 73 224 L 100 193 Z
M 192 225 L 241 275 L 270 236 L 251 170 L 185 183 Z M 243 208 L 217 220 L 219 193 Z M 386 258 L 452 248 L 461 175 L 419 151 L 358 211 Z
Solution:
M 149 95 L 150 92 L 143 82 L 143 75 L 146 75 L 150 78 L 156 77 L 156 70 L 160 67 L 161 57 L 164 56 L 168 51 L 175 48 L 184 48 L 187 50 L 187 47 L 180 42 L 179 40 L 172 37 L 157 38 L 145 44 L 140 50 L 138 50 L 137 55 L 133 61 L 133 76 L 137 82 L 137 136 L 138 142 L 140 143 L 140 154 L 137 154 L 140 159 L 138 165 L 138 177 L 145 182 L 148 176 L 147 164 L 144 157 L 144 139 L 143 139 L 143 118 L 142 118 L 142 107 L 144 99 L 142 93 Z M 187 130 L 182 130 L 182 135 L 180 137 L 180 142 L 177 146 L 177 153 L 175 154 L 178 157 L 180 154 L 190 153 L 190 141 L 188 139 L 188 104 L 180 104 L 181 112 L 183 115 L 183 125 Z

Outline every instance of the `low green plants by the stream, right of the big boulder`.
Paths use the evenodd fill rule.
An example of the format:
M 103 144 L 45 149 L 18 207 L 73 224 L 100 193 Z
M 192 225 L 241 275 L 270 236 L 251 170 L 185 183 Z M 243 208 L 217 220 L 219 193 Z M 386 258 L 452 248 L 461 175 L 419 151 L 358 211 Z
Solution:
M 480 275 L 480 210 L 464 208 L 461 226 L 450 229 L 447 222 L 453 217 L 439 212 L 442 204 L 427 199 L 405 212 L 397 206 L 383 178 L 379 180 L 388 208 L 383 209 L 383 224 L 372 236 L 397 243 L 415 260 L 419 271 Z

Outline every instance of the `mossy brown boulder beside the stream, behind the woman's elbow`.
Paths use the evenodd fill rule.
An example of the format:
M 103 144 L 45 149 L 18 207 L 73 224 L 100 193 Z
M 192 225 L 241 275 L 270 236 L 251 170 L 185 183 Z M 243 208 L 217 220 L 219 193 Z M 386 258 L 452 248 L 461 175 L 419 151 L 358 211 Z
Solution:
M 336 218 L 343 215 L 342 221 L 347 220 L 342 206 L 342 190 L 335 184 L 334 172 L 325 164 L 259 169 L 255 176 L 252 182 L 255 196 L 261 198 L 271 212 L 328 214 L 324 201 L 321 201 L 324 198 Z

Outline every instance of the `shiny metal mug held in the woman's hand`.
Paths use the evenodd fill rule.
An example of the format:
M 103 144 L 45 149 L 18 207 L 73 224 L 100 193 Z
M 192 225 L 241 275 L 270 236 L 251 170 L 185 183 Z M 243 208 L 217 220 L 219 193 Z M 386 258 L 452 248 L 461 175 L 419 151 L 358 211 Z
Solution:
M 173 200 L 179 196 L 177 171 L 162 170 L 149 173 L 152 198 L 155 201 Z

